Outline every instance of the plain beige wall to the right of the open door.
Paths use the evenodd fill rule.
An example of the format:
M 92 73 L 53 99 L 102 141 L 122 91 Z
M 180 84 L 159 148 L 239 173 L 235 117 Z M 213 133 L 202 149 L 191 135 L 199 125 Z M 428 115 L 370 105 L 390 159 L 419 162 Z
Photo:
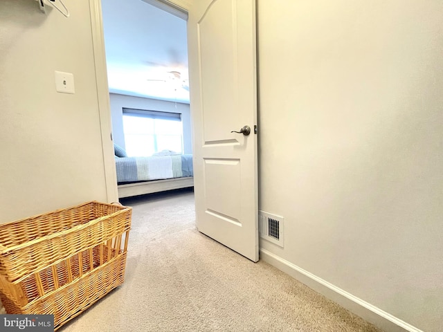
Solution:
M 257 8 L 262 248 L 442 331 L 443 2 Z

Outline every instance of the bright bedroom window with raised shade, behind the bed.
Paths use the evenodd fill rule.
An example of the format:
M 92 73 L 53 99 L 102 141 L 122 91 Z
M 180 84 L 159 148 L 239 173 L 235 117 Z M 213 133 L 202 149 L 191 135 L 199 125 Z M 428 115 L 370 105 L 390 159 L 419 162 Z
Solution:
M 124 108 L 123 132 L 130 157 L 152 156 L 163 150 L 183 154 L 180 113 Z

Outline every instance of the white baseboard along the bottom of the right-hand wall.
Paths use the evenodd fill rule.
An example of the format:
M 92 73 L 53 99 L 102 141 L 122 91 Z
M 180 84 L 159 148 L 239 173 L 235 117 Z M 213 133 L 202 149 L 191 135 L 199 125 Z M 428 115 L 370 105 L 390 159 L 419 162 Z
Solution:
M 399 318 L 386 313 L 386 311 L 373 306 L 372 304 L 359 299 L 343 289 L 330 284 L 329 282 L 309 273 L 307 270 L 292 264 L 285 259 L 274 255 L 268 250 L 260 249 L 260 259 L 271 264 L 275 268 L 282 270 L 291 277 L 299 280 L 309 288 L 314 289 L 318 293 L 325 295 L 328 299 L 340 304 L 347 310 L 359 315 L 364 320 L 374 324 L 375 326 L 389 332 L 423 332 Z

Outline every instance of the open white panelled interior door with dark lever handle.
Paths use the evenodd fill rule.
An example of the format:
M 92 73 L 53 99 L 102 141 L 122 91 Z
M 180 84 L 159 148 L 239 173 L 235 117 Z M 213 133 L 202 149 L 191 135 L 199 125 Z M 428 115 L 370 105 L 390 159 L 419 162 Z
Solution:
M 193 1 L 188 54 L 197 228 L 257 261 L 255 0 Z

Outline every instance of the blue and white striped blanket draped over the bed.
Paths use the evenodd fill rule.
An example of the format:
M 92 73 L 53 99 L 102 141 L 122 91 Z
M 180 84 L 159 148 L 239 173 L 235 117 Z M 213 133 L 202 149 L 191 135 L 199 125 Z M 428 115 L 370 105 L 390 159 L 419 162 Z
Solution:
M 116 158 L 117 182 L 193 176 L 192 154 Z

